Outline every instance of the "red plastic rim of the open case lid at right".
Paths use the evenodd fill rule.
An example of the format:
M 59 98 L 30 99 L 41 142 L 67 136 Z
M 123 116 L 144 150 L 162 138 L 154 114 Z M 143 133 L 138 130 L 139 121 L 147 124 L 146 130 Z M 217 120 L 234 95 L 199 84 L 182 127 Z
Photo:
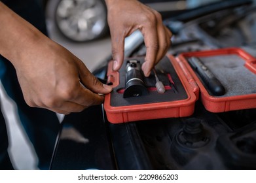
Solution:
M 251 90 L 251 93 L 246 94 L 239 94 L 239 92 L 232 93 L 233 91 L 227 91 L 229 93 L 232 93 L 232 95 L 229 95 L 229 93 L 227 93 L 227 95 L 221 97 L 210 95 L 208 90 L 206 90 L 204 84 L 202 84 L 201 80 L 194 73 L 189 63 L 187 62 L 187 58 L 191 58 L 194 56 L 199 58 L 213 58 L 215 56 L 237 56 L 238 58 L 243 59 L 243 67 L 245 70 L 247 68 L 247 70 L 251 72 L 250 75 L 252 77 L 250 78 L 252 83 L 250 86 L 246 85 L 247 80 L 249 80 L 249 75 L 244 77 L 244 88 L 253 88 L 254 86 L 256 86 L 256 59 L 253 58 L 253 56 L 251 56 L 241 48 L 223 48 L 218 50 L 183 53 L 179 55 L 176 60 L 177 63 L 181 65 L 184 73 L 190 73 L 191 76 L 187 76 L 187 80 L 190 80 L 190 82 L 196 82 L 196 84 L 199 86 L 200 99 L 206 110 L 210 112 L 227 112 L 230 110 L 256 108 L 256 90 Z M 223 63 L 225 63 L 224 59 Z M 233 76 L 233 82 L 243 82 L 241 78 L 239 78 L 240 74 L 241 73 L 238 73 L 238 75 Z

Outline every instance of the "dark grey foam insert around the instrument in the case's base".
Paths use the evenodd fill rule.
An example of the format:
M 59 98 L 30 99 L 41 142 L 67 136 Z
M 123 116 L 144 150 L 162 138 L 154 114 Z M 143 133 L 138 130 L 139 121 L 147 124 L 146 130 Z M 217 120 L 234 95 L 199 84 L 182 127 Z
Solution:
M 137 59 L 142 64 L 144 58 L 132 58 Z M 124 98 L 122 90 L 125 88 L 125 67 L 126 61 L 124 60 L 124 64 L 122 65 L 121 69 L 119 70 L 119 86 L 114 88 L 111 93 L 111 106 L 113 107 L 121 107 L 121 106 L 129 106 L 129 105 L 143 105 L 143 104 L 150 104 L 150 103 L 162 103 L 162 102 L 170 102 L 170 101 L 179 101 L 183 99 L 187 99 L 187 93 L 177 76 L 177 73 L 170 62 L 170 59 L 164 57 L 156 66 L 156 74 L 160 81 L 164 84 L 164 86 L 168 86 L 169 90 L 166 90 L 165 93 L 160 94 L 156 90 L 150 90 L 150 88 L 155 88 L 155 75 L 151 72 L 149 77 L 144 78 L 145 86 L 149 89 L 149 95 L 143 95 L 139 97 L 128 97 Z M 170 80 L 168 75 L 172 77 L 174 81 L 174 86 L 170 85 Z M 156 104 L 157 105 L 157 104 Z

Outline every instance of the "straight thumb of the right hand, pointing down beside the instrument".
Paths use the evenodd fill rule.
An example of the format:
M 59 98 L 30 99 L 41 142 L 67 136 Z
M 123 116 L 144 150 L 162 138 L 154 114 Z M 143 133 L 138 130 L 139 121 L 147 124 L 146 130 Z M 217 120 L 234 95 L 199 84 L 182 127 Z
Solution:
M 111 32 L 112 58 L 114 61 L 113 69 L 118 71 L 124 60 L 124 37 L 118 31 Z

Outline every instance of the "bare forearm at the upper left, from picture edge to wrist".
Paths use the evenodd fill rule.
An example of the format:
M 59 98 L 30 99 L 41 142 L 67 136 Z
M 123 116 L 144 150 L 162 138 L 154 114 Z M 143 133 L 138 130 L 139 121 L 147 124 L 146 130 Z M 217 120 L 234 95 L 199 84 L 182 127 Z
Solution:
M 36 42 L 46 39 L 43 33 L 1 2 L 0 24 L 0 54 L 9 59 L 14 67 L 24 61 L 28 50 L 36 49 Z

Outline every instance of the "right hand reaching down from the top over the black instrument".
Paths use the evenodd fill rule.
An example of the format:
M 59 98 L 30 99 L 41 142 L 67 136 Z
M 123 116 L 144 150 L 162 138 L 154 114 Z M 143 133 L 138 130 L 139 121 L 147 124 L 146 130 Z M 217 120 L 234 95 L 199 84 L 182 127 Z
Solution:
M 162 24 L 161 15 L 137 0 L 105 0 L 111 33 L 114 68 L 120 69 L 124 59 L 124 39 L 139 29 L 147 53 L 142 70 L 149 76 L 151 69 L 166 54 L 172 33 Z

